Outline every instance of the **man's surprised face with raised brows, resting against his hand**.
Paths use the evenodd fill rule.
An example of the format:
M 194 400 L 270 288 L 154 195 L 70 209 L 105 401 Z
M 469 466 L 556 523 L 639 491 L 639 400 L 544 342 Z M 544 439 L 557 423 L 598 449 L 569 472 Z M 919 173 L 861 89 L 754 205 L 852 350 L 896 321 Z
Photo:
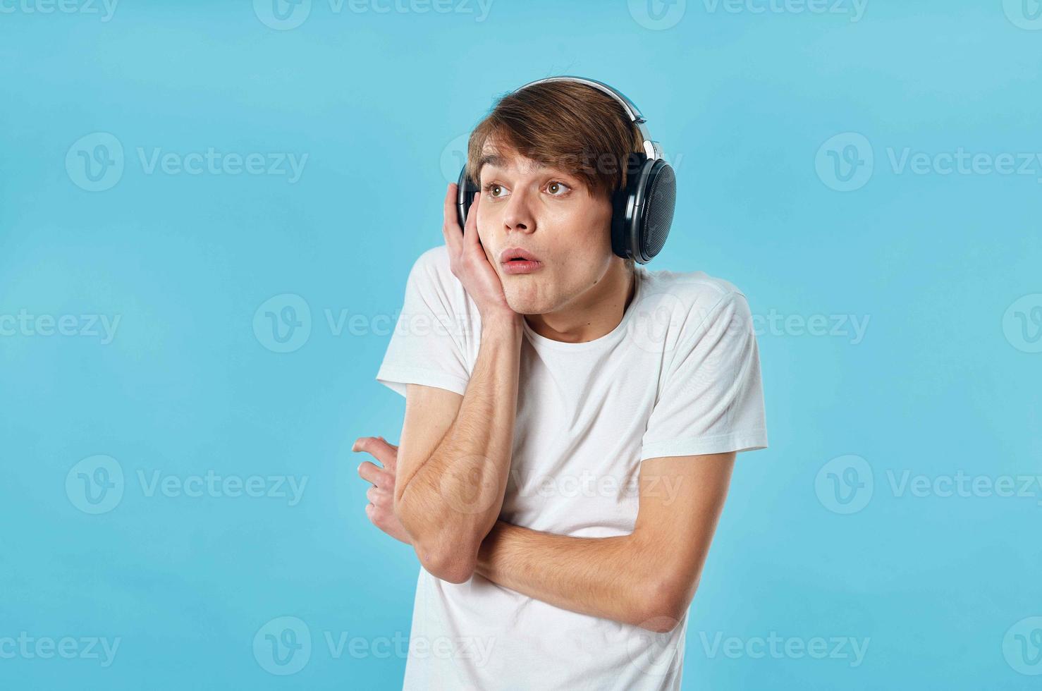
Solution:
M 593 197 L 582 181 L 507 148 L 480 169 L 477 232 L 499 274 L 506 302 L 522 315 L 581 306 L 581 296 L 604 277 L 612 252 L 612 204 Z M 500 254 L 520 247 L 540 261 L 530 273 L 511 273 Z M 619 262 L 622 260 L 619 258 Z

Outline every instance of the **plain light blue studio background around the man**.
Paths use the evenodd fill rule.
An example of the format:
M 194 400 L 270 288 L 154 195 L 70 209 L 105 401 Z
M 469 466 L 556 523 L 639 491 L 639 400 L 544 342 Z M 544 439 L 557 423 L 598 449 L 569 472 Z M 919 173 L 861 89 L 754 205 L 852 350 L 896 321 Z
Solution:
M 1034 0 L 869 0 L 863 17 L 689 0 L 662 22 L 624 0 L 495 0 L 483 21 L 473 0 L 449 14 L 315 0 L 292 28 L 262 0 L 124 0 L 107 21 L 100 4 L 45 3 L 0 14 L 0 317 L 120 322 L 108 343 L 46 320 L 0 336 L 0 639 L 121 642 L 107 667 L 0 658 L 0 686 L 400 687 L 403 648 L 338 658 L 324 639 L 407 636 L 419 569 L 368 521 L 351 444 L 398 439 L 404 400 L 373 377 L 413 262 L 442 243 L 458 138 L 497 95 L 555 74 L 626 93 L 677 170 L 648 268 L 704 270 L 755 315 L 795 316 L 760 336 L 771 446 L 739 458 L 684 688 L 1042 683 L 1016 638 L 1042 615 L 1042 480 L 1028 497 L 891 482 L 1042 475 L 1042 163 L 944 175 L 890 159 L 1042 152 Z M 92 192 L 76 162 L 97 142 L 76 143 L 95 132 L 124 169 Z M 138 151 L 156 148 L 307 158 L 296 181 L 149 173 Z M 840 191 L 847 173 L 861 187 Z M 282 314 L 284 295 L 309 311 L 290 313 L 309 326 L 292 352 L 260 309 L 276 297 Z M 369 326 L 336 328 L 353 315 Z M 814 315 L 869 321 L 854 342 L 849 324 L 795 325 Z M 66 480 L 97 454 L 125 482 L 93 515 Z M 830 486 L 847 461 L 825 465 L 850 455 L 858 474 L 836 477 L 852 484 Z M 149 494 L 139 473 L 155 471 L 307 484 L 293 505 Z M 253 647 L 282 616 L 313 639 L 290 675 Z M 854 666 L 711 655 L 700 632 L 870 640 Z

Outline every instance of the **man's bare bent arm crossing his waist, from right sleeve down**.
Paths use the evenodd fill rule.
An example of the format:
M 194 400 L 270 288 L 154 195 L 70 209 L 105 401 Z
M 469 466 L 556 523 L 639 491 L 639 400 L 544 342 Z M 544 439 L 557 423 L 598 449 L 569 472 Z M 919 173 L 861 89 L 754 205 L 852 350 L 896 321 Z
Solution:
M 497 521 L 476 572 L 562 609 L 670 631 L 694 597 L 734 462 L 735 452 L 644 461 L 630 535 L 572 538 Z

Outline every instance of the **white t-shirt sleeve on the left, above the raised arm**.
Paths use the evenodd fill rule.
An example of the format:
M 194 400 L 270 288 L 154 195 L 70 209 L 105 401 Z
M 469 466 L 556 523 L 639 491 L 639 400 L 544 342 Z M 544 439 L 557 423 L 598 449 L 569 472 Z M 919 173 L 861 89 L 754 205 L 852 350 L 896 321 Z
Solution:
M 467 366 L 466 310 L 462 286 L 439 262 L 444 247 L 416 261 L 405 283 L 405 300 L 391 335 L 376 380 L 402 396 L 406 384 L 447 389 L 463 395 L 470 380 Z M 446 275 L 447 274 L 447 275 Z

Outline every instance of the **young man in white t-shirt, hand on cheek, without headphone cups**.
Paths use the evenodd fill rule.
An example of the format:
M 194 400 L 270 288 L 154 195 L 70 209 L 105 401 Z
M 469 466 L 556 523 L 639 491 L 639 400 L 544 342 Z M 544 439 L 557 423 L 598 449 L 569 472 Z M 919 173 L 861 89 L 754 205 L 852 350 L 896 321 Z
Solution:
M 735 455 L 767 433 L 742 293 L 612 251 L 603 164 L 640 150 L 589 85 L 503 97 L 466 227 L 450 184 L 410 273 L 376 375 L 400 446 L 354 446 L 383 465 L 359 466 L 367 514 L 422 565 L 405 689 L 679 688 Z

